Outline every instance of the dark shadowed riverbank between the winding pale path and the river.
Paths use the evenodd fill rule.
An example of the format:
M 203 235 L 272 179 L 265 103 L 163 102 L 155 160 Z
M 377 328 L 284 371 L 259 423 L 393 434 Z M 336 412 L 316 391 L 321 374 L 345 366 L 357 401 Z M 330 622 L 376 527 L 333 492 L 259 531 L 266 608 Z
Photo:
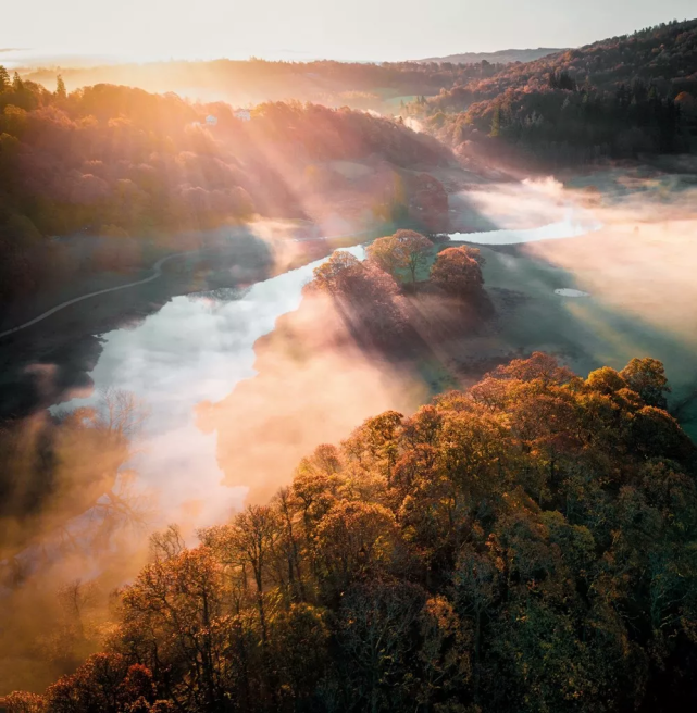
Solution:
M 152 271 L 140 272 L 137 280 L 129 276 L 125 283 L 135 285 L 122 289 L 123 276 L 103 275 L 99 283 L 84 283 L 70 292 L 43 296 L 24 305 L 15 316 L 22 314 L 30 321 L 36 317 L 39 304 L 55 307 L 49 299 L 79 297 L 85 289 L 104 290 L 0 339 L 0 418 L 22 416 L 60 402 L 65 392 L 89 389 L 89 373 L 101 353 L 100 335 L 134 328 L 175 296 L 245 289 L 308 264 L 338 247 L 357 245 L 382 230 L 376 227 L 368 234 L 318 238 L 308 237 L 304 226 L 300 232 L 288 222 L 276 221 L 273 226 L 264 224 L 264 229 L 260 226 L 253 230 L 239 229 L 234 236 L 215 233 L 207 236 L 206 247 L 200 251 L 187 251 L 181 257 L 166 253 L 157 279 L 148 279 Z M 117 291 L 110 291 L 115 288 Z M 37 366 L 41 367 L 40 377 Z M 50 378 L 46 378 L 43 366 L 50 370 Z

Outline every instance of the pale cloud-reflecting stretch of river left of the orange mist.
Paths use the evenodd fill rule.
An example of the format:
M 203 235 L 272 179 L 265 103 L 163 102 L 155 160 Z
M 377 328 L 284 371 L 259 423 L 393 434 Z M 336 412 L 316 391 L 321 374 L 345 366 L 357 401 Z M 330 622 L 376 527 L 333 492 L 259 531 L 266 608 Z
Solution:
M 363 254 L 361 247 L 348 250 Z M 103 351 L 91 372 L 95 393 L 61 409 L 90 404 L 109 387 L 133 391 L 147 402 L 150 417 L 128 468 L 154 491 L 161 522 L 198 526 L 241 505 L 246 488 L 222 485 L 216 435 L 197 427 L 196 406 L 222 399 L 254 376 L 254 342 L 281 315 L 298 308 L 302 286 L 321 262 L 257 283 L 242 293 L 175 297 L 135 328 L 103 336 Z

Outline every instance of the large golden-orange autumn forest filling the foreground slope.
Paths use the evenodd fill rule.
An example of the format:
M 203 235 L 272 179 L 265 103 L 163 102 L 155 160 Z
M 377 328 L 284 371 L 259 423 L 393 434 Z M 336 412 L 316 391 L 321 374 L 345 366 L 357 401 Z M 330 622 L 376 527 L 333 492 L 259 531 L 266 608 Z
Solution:
M 536 352 L 369 418 L 199 545 L 154 535 L 101 652 L 1 704 L 686 710 L 697 453 L 669 390 L 652 359 L 584 379 Z M 87 589 L 70 602 L 54 648 L 69 670 L 94 628 Z

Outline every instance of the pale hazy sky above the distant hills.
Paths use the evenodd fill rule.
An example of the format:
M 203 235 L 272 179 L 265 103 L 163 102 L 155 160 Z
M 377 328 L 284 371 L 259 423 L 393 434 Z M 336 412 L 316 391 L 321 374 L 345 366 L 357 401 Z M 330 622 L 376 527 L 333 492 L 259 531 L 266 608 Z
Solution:
M 695 0 L 16 0 L 0 48 L 137 60 L 400 60 L 574 47 L 697 16 Z M 0 62 L 3 55 L 0 53 Z

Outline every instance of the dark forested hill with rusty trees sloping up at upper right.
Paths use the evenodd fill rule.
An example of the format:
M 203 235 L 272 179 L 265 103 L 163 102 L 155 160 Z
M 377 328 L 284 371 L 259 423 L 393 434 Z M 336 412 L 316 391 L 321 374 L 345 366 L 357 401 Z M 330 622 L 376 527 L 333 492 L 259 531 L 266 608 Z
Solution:
M 510 64 L 408 110 L 464 154 L 573 165 L 689 151 L 696 96 L 697 21 L 686 21 Z

